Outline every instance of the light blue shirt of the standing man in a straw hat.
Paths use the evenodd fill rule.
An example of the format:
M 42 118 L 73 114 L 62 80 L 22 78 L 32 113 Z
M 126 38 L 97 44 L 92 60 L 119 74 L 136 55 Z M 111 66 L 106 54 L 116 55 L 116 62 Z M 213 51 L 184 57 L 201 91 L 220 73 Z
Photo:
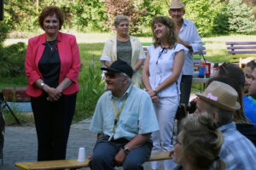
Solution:
M 201 52 L 203 50 L 201 37 L 196 30 L 195 24 L 191 20 L 183 19 L 183 26 L 178 33 L 178 37 L 183 42 L 188 42 L 193 48 L 193 52 Z M 193 59 L 192 54 L 188 51 L 185 52 L 185 62 L 183 65 L 183 75 L 193 75 Z

